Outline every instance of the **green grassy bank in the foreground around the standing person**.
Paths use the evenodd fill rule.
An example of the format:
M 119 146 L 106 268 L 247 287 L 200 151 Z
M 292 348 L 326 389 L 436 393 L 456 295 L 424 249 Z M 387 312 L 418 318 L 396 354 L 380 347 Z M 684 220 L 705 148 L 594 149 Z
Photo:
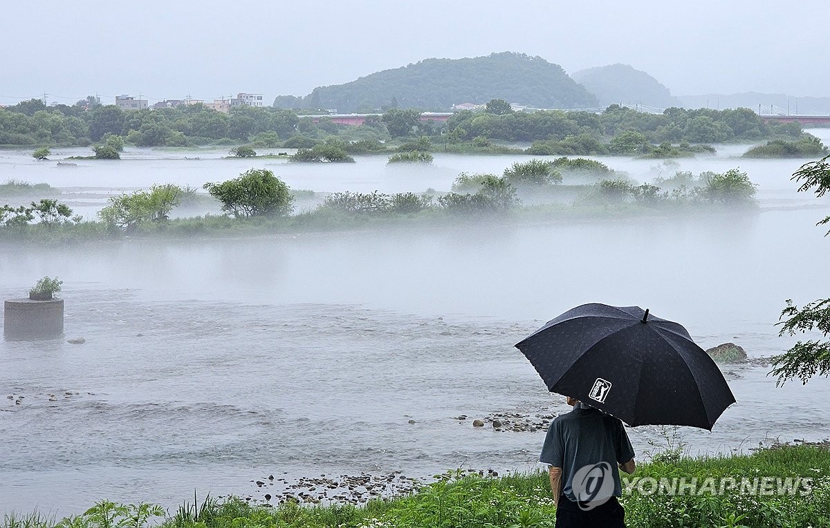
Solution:
M 676 453 L 657 456 L 637 469 L 638 479 L 685 478 L 705 482 L 720 477 L 808 477 L 809 492 L 766 495 L 703 492 L 644 495 L 633 479 L 623 487 L 627 526 L 830 526 L 830 451 L 813 445 L 783 446 L 749 455 L 724 458 L 683 458 Z M 632 483 L 633 482 L 633 483 Z M 151 515 L 151 514 L 156 515 Z M 150 506 L 123 506 L 102 501 L 82 516 L 56 521 L 37 513 L 7 514 L 0 528 L 141 528 L 149 521 L 165 528 L 491 528 L 554 526 L 555 506 L 547 474 L 537 472 L 497 478 L 449 472 L 406 497 L 378 499 L 365 506 L 303 506 L 290 501 L 278 506 L 254 506 L 239 498 L 185 503 L 164 514 Z M 155 521 L 155 522 L 154 522 Z

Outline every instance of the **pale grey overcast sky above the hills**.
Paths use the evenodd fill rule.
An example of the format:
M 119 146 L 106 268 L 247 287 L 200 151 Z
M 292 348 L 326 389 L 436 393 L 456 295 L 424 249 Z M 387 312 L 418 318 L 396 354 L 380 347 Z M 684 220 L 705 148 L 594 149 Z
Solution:
M 828 0 L 7 0 L 0 104 L 305 95 L 427 57 L 616 62 L 675 95 L 830 95 Z

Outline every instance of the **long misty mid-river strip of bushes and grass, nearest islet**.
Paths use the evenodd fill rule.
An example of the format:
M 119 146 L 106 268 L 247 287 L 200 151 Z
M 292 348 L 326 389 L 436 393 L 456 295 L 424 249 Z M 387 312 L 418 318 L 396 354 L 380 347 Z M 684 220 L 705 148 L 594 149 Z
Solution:
M 413 151 L 420 152 L 420 151 Z M 589 174 L 593 182 L 563 185 L 562 173 Z M 22 186 L 17 183 L 17 186 Z M 491 221 L 551 220 L 568 216 L 675 214 L 715 207 L 752 211 L 755 185 L 746 172 L 676 172 L 655 184 L 637 185 L 603 163 L 586 159 L 515 162 L 501 176 L 462 172 L 447 193 L 335 192 L 320 203 L 311 191 L 291 191 L 266 169 L 251 169 L 225 182 L 204 186 L 221 204 L 222 216 L 173 218 L 183 202 L 198 201 L 191 187 L 150 186 L 110 196 L 98 220 L 72 216 L 59 201 L 0 207 L 0 238 L 7 240 L 96 240 L 129 235 L 173 236 L 257 234 L 296 230 L 348 229 L 401 222 L 456 222 L 486 216 Z M 294 216 L 295 196 L 311 209 Z M 316 204 L 316 205 L 314 205 Z

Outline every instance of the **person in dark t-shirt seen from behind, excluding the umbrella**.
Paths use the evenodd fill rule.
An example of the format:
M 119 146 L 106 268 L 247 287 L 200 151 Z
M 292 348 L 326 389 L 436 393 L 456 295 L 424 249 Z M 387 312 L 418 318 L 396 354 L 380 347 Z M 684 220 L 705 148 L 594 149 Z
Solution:
M 540 462 L 549 465 L 556 527 L 624 528 L 618 469 L 633 473 L 634 450 L 623 422 L 568 398 L 574 409 L 558 416 L 544 438 Z

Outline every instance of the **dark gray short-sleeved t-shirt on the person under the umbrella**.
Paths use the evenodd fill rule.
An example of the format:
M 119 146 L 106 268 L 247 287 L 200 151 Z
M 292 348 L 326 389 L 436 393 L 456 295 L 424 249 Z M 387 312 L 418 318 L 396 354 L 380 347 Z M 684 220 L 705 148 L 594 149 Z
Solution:
M 574 410 L 551 422 L 539 460 L 562 468 L 562 492 L 571 501 L 577 501 L 577 495 L 581 496 L 580 500 L 585 499 L 585 474 L 591 471 L 591 467 L 594 468 L 591 471 L 594 477 L 601 473 L 605 477 L 613 477 L 613 496 L 622 497 L 617 464 L 627 463 L 632 458 L 634 449 L 623 422 L 598 409 L 577 404 Z M 574 493 L 574 475 L 577 472 L 580 473 L 577 482 L 579 493 Z M 611 492 L 610 487 L 605 488 L 608 493 Z

